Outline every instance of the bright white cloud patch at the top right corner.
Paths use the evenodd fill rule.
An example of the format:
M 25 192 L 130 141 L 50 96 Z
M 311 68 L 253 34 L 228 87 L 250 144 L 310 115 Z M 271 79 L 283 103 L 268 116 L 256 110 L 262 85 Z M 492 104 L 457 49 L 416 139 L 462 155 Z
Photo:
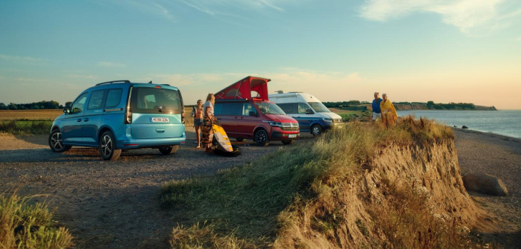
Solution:
M 509 26 L 521 14 L 521 6 L 515 0 L 369 0 L 359 11 L 370 21 L 389 21 L 414 12 L 435 13 L 443 23 L 465 34 L 482 35 Z

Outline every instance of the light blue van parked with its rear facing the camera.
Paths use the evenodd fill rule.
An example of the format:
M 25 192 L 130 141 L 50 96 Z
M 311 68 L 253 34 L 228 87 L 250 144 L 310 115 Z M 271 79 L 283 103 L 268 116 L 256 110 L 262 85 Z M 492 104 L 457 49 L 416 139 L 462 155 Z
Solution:
M 54 120 L 49 135 L 52 151 L 72 146 L 98 148 L 114 161 L 121 150 L 158 148 L 175 153 L 186 142 L 183 98 L 167 84 L 108 81 L 83 91 Z

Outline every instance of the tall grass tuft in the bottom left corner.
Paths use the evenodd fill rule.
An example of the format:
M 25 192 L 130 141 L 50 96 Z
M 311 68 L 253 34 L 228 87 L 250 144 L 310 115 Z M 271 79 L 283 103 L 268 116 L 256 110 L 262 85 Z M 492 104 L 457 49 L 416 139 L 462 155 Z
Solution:
M 69 230 L 57 227 L 45 203 L 33 198 L 0 194 L 0 248 L 71 248 Z

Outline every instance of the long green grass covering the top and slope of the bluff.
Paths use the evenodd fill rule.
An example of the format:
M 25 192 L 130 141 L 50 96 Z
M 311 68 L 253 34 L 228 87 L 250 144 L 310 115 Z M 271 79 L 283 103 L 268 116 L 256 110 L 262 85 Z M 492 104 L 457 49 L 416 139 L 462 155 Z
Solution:
M 253 163 L 219 171 L 216 176 L 170 181 L 163 184 L 160 200 L 164 208 L 172 211 L 173 220 L 180 223 L 173 229 L 171 245 L 273 246 L 280 230 L 298 222 L 296 213 L 305 213 L 316 202 L 333 206 L 333 190 L 363 170 L 375 156 L 375 146 L 450 138 L 450 128 L 425 119 L 404 118 L 389 129 L 350 122 L 345 129 L 279 149 Z M 332 225 L 325 224 L 325 228 L 334 227 L 336 221 L 330 221 Z M 218 240 L 230 244 L 221 247 Z

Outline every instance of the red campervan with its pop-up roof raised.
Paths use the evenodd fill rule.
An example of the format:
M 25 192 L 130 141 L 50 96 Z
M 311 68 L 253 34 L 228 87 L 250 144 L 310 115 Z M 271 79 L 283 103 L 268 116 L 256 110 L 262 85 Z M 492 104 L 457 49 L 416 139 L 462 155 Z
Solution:
M 268 100 L 268 81 L 248 76 L 215 94 L 214 113 L 229 137 L 266 146 L 273 140 L 290 144 L 300 136 L 298 122 Z

